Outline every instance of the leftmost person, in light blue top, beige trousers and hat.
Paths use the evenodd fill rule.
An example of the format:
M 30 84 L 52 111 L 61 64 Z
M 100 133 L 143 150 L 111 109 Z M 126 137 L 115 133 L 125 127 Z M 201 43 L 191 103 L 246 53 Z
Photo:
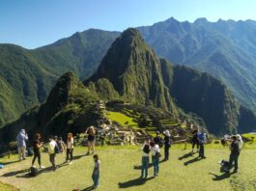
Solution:
M 28 135 L 25 132 L 25 129 L 21 129 L 16 136 L 17 141 L 17 152 L 18 152 L 18 160 L 21 161 L 22 159 L 26 159 L 26 141 L 28 140 Z

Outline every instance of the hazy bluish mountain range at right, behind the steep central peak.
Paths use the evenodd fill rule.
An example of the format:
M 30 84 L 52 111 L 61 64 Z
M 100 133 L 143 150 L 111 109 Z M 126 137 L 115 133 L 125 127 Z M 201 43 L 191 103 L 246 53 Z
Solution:
M 255 21 L 199 18 L 190 23 L 172 17 L 138 29 L 157 55 L 211 73 L 256 111 Z

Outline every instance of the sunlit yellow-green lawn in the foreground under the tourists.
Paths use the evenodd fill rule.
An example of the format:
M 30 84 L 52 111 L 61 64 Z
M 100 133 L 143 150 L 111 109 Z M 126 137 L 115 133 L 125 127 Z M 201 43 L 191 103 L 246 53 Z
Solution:
M 187 145 L 187 148 L 190 150 L 190 145 Z M 139 147 L 97 148 L 101 161 L 100 188 L 98 190 L 255 191 L 255 150 L 242 150 L 240 173 L 226 177 L 219 172 L 217 162 L 222 158 L 228 158 L 229 150 L 227 148 L 213 149 L 212 145 L 208 145 L 206 146 L 207 159 L 200 161 L 194 159 L 196 155 L 180 158 L 189 152 L 189 150 L 183 149 L 184 145 L 175 145 L 171 148 L 170 161 L 160 163 L 159 177 L 141 180 L 138 178 L 140 170 L 134 168 L 140 165 L 141 161 Z M 74 188 L 83 190 L 92 185 L 91 174 L 94 165 L 92 155 L 83 156 L 85 151 L 86 148 L 75 148 L 76 159 L 72 165 L 63 166 L 56 172 L 44 171 L 38 177 L 27 177 L 27 172 L 24 172 L 30 167 L 31 158 L 22 162 L 15 162 L 15 155 L 11 160 L 0 159 L 0 163 L 11 162 L 0 170 L 0 181 L 13 184 L 20 190 L 26 191 L 35 190 L 36 187 L 38 191 L 71 191 Z M 58 164 L 64 160 L 64 155 L 57 155 Z M 45 153 L 43 153 L 43 165 L 46 167 L 50 165 L 48 155 Z M 150 176 L 153 174 L 153 168 L 150 168 L 149 174 Z

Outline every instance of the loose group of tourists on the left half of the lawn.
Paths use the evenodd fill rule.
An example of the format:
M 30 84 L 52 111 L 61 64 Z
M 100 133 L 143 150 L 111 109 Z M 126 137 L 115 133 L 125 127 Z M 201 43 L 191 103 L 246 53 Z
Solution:
M 93 126 L 90 126 L 85 131 L 88 134 L 87 143 L 88 143 L 88 151 L 86 154 L 94 154 L 95 152 L 95 135 L 96 131 Z M 36 168 L 35 161 L 38 159 L 39 169 L 43 169 L 42 165 L 42 155 L 41 149 L 45 148 L 45 144 L 41 141 L 42 137 L 41 134 L 36 133 L 33 140 L 33 159 L 32 159 L 32 167 Z M 19 161 L 26 159 L 26 141 L 28 141 L 28 135 L 25 132 L 25 129 L 21 129 L 17 136 L 17 150 L 18 150 L 18 159 Z M 47 151 L 49 153 L 49 161 L 51 163 L 52 169 L 55 171 L 58 166 L 55 162 L 55 157 L 57 153 L 65 152 L 66 150 L 66 163 L 72 164 L 73 159 L 73 148 L 74 148 L 74 139 L 72 133 L 68 133 L 67 135 L 67 142 L 62 140 L 62 137 L 58 136 L 49 136 L 48 138 L 48 147 Z M 99 179 L 100 179 L 100 158 L 98 154 L 93 155 L 95 161 L 95 168 L 93 171 L 92 179 L 94 181 L 94 187 L 99 186 Z

